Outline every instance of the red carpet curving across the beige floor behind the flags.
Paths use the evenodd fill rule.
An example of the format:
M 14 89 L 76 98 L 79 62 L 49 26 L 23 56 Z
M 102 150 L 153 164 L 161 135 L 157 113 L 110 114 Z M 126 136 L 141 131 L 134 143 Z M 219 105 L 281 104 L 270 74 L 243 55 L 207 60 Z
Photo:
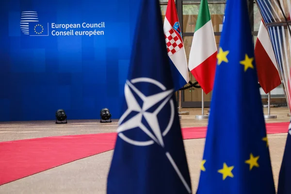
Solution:
M 267 124 L 267 133 L 288 132 L 289 122 Z M 206 127 L 182 129 L 183 139 L 205 138 Z M 0 185 L 114 148 L 116 133 L 69 135 L 0 142 Z

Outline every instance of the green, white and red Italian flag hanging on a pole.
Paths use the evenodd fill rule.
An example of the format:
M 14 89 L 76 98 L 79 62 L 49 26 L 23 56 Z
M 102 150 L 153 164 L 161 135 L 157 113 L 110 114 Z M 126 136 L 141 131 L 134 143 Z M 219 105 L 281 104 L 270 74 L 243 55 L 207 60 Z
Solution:
M 208 94 L 213 88 L 216 54 L 217 48 L 208 2 L 201 0 L 188 68 L 205 94 Z

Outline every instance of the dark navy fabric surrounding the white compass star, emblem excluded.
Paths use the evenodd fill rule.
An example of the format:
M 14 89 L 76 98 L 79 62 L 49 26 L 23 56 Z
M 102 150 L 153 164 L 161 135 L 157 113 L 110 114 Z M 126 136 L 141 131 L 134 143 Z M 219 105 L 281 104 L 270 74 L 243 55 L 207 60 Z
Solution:
M 166 90 L 173 90 L 174 84 L 162 26 L 159 0 L 142 0 L 140 15 L 137 18 L 128 81 L 136 78 L 150 78 L 162 83 Z M 140 82 L 132 84 L 146 97 L 162 92 L 161 88 L 151 83 Z M 138 105 L 143 106 L 143 102 L 138 95 L 132 89 L 130 91 L 137 99 Z M 188 193 L 166 153 L 171 155 L 182 177 L 191 189 L 174 92 L 171 93 L 170 97 L 172 105 L 168 101 L 157 115 L 159 127 L 164 132 L 170 122 L 172 111 L 174 113 L 172 127 L 162 137 L 164 146 L 160 146 L 156 142 L 149 146 L 135 146 L 124 141 L 120 137 L 121 133 L 118 133 L 108 174 L 107 194 Z M 159 105 L 158 103 L 157 106 Z M 122 114 L 128 108 L 124 98 Z M 150 113 L 156 108 L 154 106 L 145 111 Z M 127 118 L 120 121 L 120 125 L 129 121 L 136 114 L 137 112 L 134 111 L 129 113 Z M 139 121 L 137 120 L 136 122 Z M 144 116 L 142 124 L 154 134 Z M 122 134 L 135 141 L 151 140 L 139 127 L 126 130 Z

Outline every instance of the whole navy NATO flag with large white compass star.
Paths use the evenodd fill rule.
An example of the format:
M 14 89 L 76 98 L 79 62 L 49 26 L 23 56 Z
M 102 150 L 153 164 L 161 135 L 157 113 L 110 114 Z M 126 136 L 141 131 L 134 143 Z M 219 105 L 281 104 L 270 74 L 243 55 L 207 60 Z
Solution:
M 191 193 L 159 0 L 139 14 L 107 194 Z

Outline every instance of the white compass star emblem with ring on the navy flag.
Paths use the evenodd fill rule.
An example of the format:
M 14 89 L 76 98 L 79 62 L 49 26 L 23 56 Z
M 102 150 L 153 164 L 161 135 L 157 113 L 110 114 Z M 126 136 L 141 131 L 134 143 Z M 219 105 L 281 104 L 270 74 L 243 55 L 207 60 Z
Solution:
M 156 94 L 146 96 L 143 94 L 138 87 L 135 86 L 136 83 L 148 83 L 153 84 L 156 87 L 161 89 L 161 92 Z M 163 137 L 169 132 L 173 125 L 174 116 L 175 116 L 175 107 L 174 101 L 172 99 L 174 89 L 167 90 L 166 87 L 159 81 L 150 79 L 150 78 L 136 78 L 131 81 L 127 80 L 124 88 L 125 99 L 128 106 L 128 109 L 123 113 L 119 119 L 119 127 L 117 129 L 118 136 L 125 142 L 133 146 L 150 146 L 152 144 L 158 144 L 159 146 L 164 147 Z M 143 103 L 140 105 L 136 97 L 140 98 Z M 160 129 L 158 113 L 164 108 L 164 106 L 170 103 L 170 118 L 167 124 L 167 127 L 164 130 Z M 158 105 L 158 106 L 157 106 Z M 153 108 L 155 108 L 153 110 Z M 135 112 L 134 116 L 131 116 L 130 113 Z M 147 122 L 146 125 L 142 122 L 143 118 Z M 138 141 L 130 139 L 124 134 L 124 131 L 128 130 L 142 130 L 145 135 L 148 137 L 146 141 Z M 165 152 L 169 162 L 172 164 L 175 169 L 178 177 L 181 179 L 183 185 L 189 193 L 191 189 L 188 186 L 185 178 L 182 176 L 181 172 L 176 165 L 176 162 L 171 157 L 169 152 Z

